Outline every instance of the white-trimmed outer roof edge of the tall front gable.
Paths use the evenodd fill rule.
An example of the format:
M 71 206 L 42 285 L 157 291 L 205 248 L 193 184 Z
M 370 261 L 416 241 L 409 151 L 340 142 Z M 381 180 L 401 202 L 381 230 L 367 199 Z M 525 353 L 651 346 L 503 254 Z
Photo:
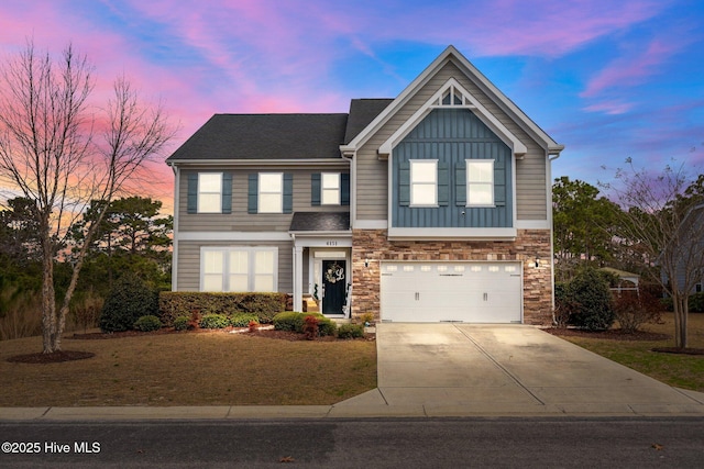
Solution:
M 388 104 L 363 131 L 341 146 L 343 154 L 353 154 L 374 135 L 396 112 L 406 104 L 436 74 L 448 63 L 453 63 L 470 78 L 498 108 L 514 120 L 528 135 L 546 148 L 549 154 L 559 154 L 564 146 L 558 144 L 530 118 L 528 118 L 510 99 L 508 99 L 488 78 L 486 78 L 454 46 L 448 46 L 402 93 Z

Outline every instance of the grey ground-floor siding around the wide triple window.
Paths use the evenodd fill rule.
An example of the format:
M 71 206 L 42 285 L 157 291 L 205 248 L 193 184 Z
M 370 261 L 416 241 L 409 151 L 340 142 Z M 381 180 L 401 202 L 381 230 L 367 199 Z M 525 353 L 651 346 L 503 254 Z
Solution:
M 293 242 L 178 242 L 178 291 L 198 291 L 200 288 L 201 247 L 277 247 L 278 291 L 292 293 L 293 288 Z

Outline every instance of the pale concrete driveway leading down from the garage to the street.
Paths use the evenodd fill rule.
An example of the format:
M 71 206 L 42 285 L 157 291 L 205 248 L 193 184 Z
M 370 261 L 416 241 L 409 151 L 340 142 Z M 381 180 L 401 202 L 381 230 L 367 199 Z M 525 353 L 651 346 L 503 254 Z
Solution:
M 704 415 L 678 390 L 527 325 L 376 328 L 378 389 L 333 406 L 369 415 Z

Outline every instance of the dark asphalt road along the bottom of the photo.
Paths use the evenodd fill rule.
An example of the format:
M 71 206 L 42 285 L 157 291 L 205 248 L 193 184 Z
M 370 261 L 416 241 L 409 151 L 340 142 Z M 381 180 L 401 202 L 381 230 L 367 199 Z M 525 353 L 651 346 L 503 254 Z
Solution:
M 35 421 L 0 443 L 1 468 L 701 468 L 704 420 Z

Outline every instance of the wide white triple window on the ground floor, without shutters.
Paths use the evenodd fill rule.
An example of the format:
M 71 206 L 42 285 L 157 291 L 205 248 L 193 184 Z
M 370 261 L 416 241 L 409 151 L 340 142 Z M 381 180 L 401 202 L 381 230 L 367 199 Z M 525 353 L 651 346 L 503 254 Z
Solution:
M 200 291 L 276 291 L 278 248 L 201 248 Z

